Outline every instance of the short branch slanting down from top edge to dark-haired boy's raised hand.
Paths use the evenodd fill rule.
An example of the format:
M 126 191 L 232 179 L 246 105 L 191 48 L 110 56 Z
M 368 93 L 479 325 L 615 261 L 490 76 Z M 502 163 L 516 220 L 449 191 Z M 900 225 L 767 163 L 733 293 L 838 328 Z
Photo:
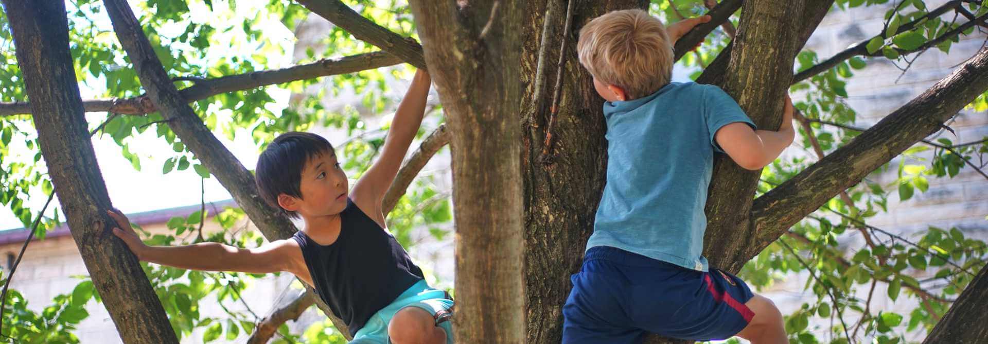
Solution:
M 427 69 L 421 44 L 375 24 L 343 2 L 339 0 L 296 0 L 296 2 L 340 29 L 346 30 L 358 40 L 374 44 L 416 68 Z

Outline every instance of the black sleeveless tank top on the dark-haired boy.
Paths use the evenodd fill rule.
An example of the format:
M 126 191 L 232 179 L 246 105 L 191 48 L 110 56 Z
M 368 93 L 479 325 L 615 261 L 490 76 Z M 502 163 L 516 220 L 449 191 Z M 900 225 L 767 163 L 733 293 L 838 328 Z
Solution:
M 408 252 L 349 198 L 340 213 L 340 235 L 320 245 L 302 231 L 292 236 L 319 298 L 347 323 L 350 334 L 373 313 L 423 279 Z

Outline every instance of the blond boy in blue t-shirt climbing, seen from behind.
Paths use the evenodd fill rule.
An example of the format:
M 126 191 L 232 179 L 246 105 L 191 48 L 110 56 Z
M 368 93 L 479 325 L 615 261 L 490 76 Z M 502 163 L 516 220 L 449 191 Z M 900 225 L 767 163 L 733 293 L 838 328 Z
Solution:
M 779 131 L 759 130 L 720 88 L 671 82 L 673 43 L 694 25 L 667 31 L 626 10 L 580 31 L 580 63 L 607 100 L 608 180 L 563 306 L 563 343 L 787 342 L 775 304 L 701 253 L 714 152 L 760 170 L 792 142 L 792 106 Z

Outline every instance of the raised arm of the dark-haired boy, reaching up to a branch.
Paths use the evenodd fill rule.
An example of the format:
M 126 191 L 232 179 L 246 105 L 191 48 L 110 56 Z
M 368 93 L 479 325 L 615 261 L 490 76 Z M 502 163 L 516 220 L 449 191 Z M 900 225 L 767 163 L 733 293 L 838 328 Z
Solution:
M 375 218 L 380 221 L 383 221 L 380 211 L 381 200 L 394 181 L 395 175 L 398 174 L 405 153 L 408 152 L 408 146 L 412 144 L 422 124 L 431 82 L 432 79 L 425 70 L 419 69 L 415 72 L 412 84 L 394 114 L 391 128 L 387 130 L 380 157 L 357 181 L 352 190 L 354 202 L 372 217 L 381 217 Z

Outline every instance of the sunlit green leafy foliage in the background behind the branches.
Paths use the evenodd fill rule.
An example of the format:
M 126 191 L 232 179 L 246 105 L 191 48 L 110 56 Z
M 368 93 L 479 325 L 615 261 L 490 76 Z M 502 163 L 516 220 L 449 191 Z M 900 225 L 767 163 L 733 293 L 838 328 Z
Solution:
M 348 5 L 375 23 L 404 37 L 415 38 L 415 27 L 407 4 L 397 0 L 353 0 Z M 892 6 L 889 6 L 892 5 Z M 103 4 L 76 0 L 68 4 L 69 46 L 76 61 L 76 75 L 83 98 L 128 98 L 142 94 L 140 83 L 131 69 L 124 49 L 117 42 L 106 20 Z M 315 61 L 376 50 L 369 43 L 356 40 L 349 33 L 332 28 L 324 39 L 308 44 L 304 51 L 292 52 L 292 32 L 301 31 L 307 11 L 288 0 L 246 2 L 236 0 L 148 0 L 133 4 L 145 34 L 165 69 L 173 77 L 216 78 L 226 75 L 285 67 L 291 63 Z M 949 52 L 956 37 L 946 37 L 963 19 L 924 20 L 913 29 L 899 33 L 903 25 L 927 15 L 933 9 L 922 0 L 837 0 L 833 11 L 870 7 L 888 9 L 881 32 L 867 41 L 870 56 L 855 56 L 838 63 L 790 88 L 796 108 L 809 121 L 811 132 L 800 129 L 796 145 L 811 152 L 816 141 L 825 153 L 850 142 L 859 130 L 858 113 L 848 105 L 848 79 L 878 59 L 908 64 L 925 48 L 936 47 Z M 988 3 L 965 2 L 974 16 L 988 13 Z M 692 17 L 706 11 L 700 0 L 654 0 L 650 10 L 667 22 Z M 738 17 L 731 18 L 737 27 Z M 969 29 L 961 35 L 970 35 Z M 683 66 L 696 79 L 701 71 L 731 40 L 718 29 L 700 48 L 688 53 Z M 931 46 L 928 46 L 931 45 Z M 294 57 L 290 57 L 294 55 Z M 806 70 L 823 58 L 812 50 L 799 53 L 798 70 Z M 206 127 L 216 135 L 233 140 L 247 135 L 258 150 L 276 135 L 289 130 L 320 127 L 345 131 L 350 137 L 338 145 L 344 167 L 351 178 L 369 167 L 383 144 L 383 128 L 370 128 L 368 114 L 384 113 L 395 105 L 396 96 L 389 84 L 410 76 L 403 67 L 367 70 L 337 75 L 324 80 L 307 79 L 287 84 L 219 94 L 192 104 Z M 189 87 L 195 81 L 177 81 Z M 293 94 L 288 99 L 288 95 Z M 359 104 L 340 106 L 328 100 L 356 96 Z M 801 97 L 801 98 L 800 98 Z M 0 102 L 25 101 L 23 77 L 17 67 L 5 14 L 0 12 Z M 290 103 L 291 106 L 286 106 Z M 988 110 L 988 93 L 978 97 L 969 110 Z M 427 123 L 442 122 L 438 114 Z M 146 116 L 93 116 L 91 129 L 106 121 L 101 130 L 121 147 L 121 155 L 135 170 L 151 168 L 162 174 L 209 173 L 196 155 L 162 123 L 159 114 Z M 30 226 L 37 212 L 28 205 L 29 196 L 48 195 L 51 183 L 34 133 L 32 118 L 27 115 L 0 117 L 0 205 L 11 210 L 25 226 Z M 149 130 L 149 131 L 148 131 Z M 162 166 L 141 164 L 147 155 L 143 142 L 134 136 L 149 132 L 159 138 L 155 144 L 171 148 Z M 428 129 L 420 130 L 420 135 Z M 332 139 L 332 138 L 331 138 Z M 859 341 L 859 334 L 877 343 L 896 343 L 908 332 L 925 332 L 932 328 L 955 298 L 970 283 L 973 272 L 984 266 L 986 245 L 966 237 L 957 228 L 930 226 L 919 232 L 899 234 L 868 225 L 870 218 L 887 213 L 890 200 L 906 201 L 925 193 L 931 179 L 953 178 L 967 161 L 981 161 L 988 153 L 988 142 L 953 142 L 938 137 L 931 143 L 907 150 L 897 162 L 886 164 L 857 187 L 848 190 L 847 199 L 836 197 L 819 212 L 790 229 L 770 245 L 741 272 L 753 287 L 767 290 L 787 276 L 806 280 L 804 290 L 810 296 L 805 303 L 786 315 L 785 326 L 790 341 L 799 343 Z M 762 175 L 759 193 L 771 190 L 816 160 L 813 154 L 794 154 L 777 160 Z M 889 179 L 887 176 L 894 175 Z M 436 239 L 451 231 L 450 195 L 437 185 L 433 176 L 422 176 L 389 215 L 389 230 L 406 248 L 414 249 L 422 230 Z M 195 188 L 193 188 L 195 189 Z M 198 190 L 196 190 L 198 194 Z M 191 193 L 192 194 L 192 193 Z M 197 196 L 199 195 L 190 195 Z M 851 203 L 847 203 L 850 201 Z M 216 214 L 211 214 L 216 213 Z M 211 217 L 210 217 L 211 216 Z M 205 218 L 219 224 L 219 230 L 202 231 Z M 59 221 L 57 210 L 45 214 L 38 229 L 46 230 Z M 149 244 L 173 245 L 201 241 L 222 242 L 239 247 L 255 247 L 264 242 L 256 231 L 245 228 L 243 211 L 207 209 L 168 220 L 165 233 L 144 232 Z M 859 240 L 858 238 L 868 238 Z M 143 264 L 169 320 L 179 337 L 187 338 L 202 331 L 202 340 L 232 340 L 252 333 L 256 321 L 265 314 L 255 313 L 240 295 L 261 276 L 251 274 L 203 273 Z M 874 292 L 880 286 L 879 292 Z M 871 290 L 867 299 L 858 291 Z M 885 292 L 880 292 L 880 291 Z M 815 297 L 815 298 L 812 298 Z M 892 301 L 910 299 L 914 309 L 895 313 L 878 309 L 873 298 Z M 92 282 L 83 280 L 69 295 L 55 297 L 40 312 L 28 308 L 28 301 L 11 291 L 8 308 L 3 313 L 5 338 L 18 342 L 78 342 L 72 332 L 88 313 L 84 305 L 99 301 Z M 206 316 L 202 305 L 218 302 L 222 316 Z M 237 305 L 234 307 L 233 305 Z M 240 305 L 243 305 L 241 310 Z M 821 326 L 830 320 L 832 325 Z M 6 324 L 14 324 L 7 326 Z M 198 332 L 196 332 L 198 333 Z M 276 342 L 342 343 L 343 336 L 329 321 L 316 322 L 300 333 L 287 325 L 278 330 Z

